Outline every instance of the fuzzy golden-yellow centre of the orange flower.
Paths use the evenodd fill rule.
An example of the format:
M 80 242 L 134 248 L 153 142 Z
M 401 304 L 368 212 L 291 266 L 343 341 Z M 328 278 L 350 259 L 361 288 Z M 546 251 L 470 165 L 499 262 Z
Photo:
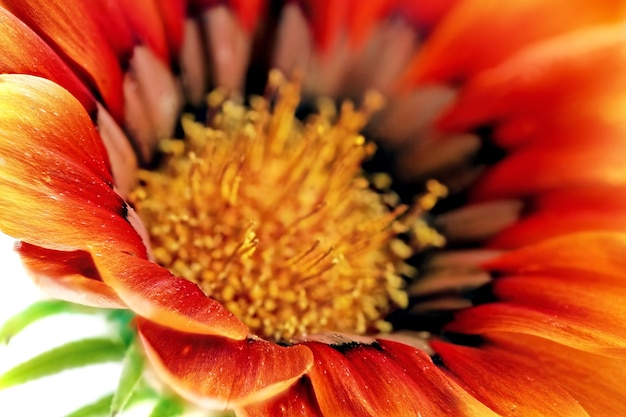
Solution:
M 165 141 L 162 168 L 140 173 L 131 199 L 155 260 L 264 338 L 391 330 L 413 252 L 398 234 L 423 207 L 388 201 L 361 171 L 373 146 L 359 131 L 380 98 L 300 122 L 299 87 L 272 74 L 268 89 L 273 106 L 226 101 L 210 127 L 184 117 L 186 140 Z

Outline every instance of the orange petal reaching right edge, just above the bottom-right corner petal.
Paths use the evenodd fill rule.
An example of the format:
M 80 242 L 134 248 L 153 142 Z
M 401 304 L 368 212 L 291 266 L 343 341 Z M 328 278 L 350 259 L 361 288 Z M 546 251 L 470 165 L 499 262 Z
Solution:
M 606 355 L 626 353 L 626 290 L 611 277 L 590 273 L 523 275 L 496 279 L 497 302 L 455 315 L 446 330 L 531 334 Z

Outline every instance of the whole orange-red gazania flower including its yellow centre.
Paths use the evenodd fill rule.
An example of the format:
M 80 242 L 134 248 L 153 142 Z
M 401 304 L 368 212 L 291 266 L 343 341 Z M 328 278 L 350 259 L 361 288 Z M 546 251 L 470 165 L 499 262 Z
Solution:
M 207 409 L 619 415 L 626 3 L 427 3 L 3 1 L 0 229 L 51 296 L 136 315 Z M 210 128 L 161 141 L 207 63 Z M 272 75 L 224 102 L 274 66 L 308 96 L 376 87 L 365 132 L 452 196 L 372 190 L 371 99 L 301 124 Z M 439 243 L 416 215 L 448 245 L 403 281 L 400 234 Z

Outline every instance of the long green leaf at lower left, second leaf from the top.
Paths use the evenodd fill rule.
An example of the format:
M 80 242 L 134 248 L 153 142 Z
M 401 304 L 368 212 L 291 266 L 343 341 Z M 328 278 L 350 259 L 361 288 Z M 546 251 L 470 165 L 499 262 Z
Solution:
M 35 356 L 0 376 L 0 389 L 85 365 L 119 361 L 125 347 L 109 339 L 85 339 L 70 342 Z

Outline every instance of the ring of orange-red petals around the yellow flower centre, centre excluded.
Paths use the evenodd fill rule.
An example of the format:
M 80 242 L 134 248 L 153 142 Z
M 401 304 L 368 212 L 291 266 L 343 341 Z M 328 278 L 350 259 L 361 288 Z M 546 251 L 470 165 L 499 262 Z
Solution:
M 250 56 L 267 52 L 251 46 L 269 36 L 262 29 L 271 19 L 259 21 L 267 5 L 190 2 L 202 21 L 186 18 L 182 1 L 75 6 L 2 2 L 1 65 L 10 75 L 0 78 L 0 229 L 22 242 L 26 268 L 51 295 L 132 310 L 169 387 L 243 416 L 602 416 L 625 408 L 624 2 L 284 5 L 272 64 L 289 71 L 310 55 L 309 94 L 375 85 L 390 96 L 372 122 L 377 134 L 423 102 L 427 84 L 445 87 L 430 90 L 438 99 L 444 91 L 443 114 L 401 117 L 406 130 L 391 128 L 383 144 L 402 150 L 403 175 L 439 176 L 467 202 L 433 212 L 450 246 L 423 264 L 408 289 L 412 310 L 398 319 L 427 330 L 420 313 L 451 302 L 452 318 L 436 331 L 276 337 L 281 343 L 251 335 L 227 303 L 152 262 L 124 199 L 136 166 L 175 124 L 180 84 L 171 65 L 198 103 L 204 30 L 216 83 L 237 95 Z M 398 29 L 376 26 L 395 14 L 406 19 L 402 36 L 423 29 L 423 45 L 394 50 L 402 59 L 393 65 L 377 62 L 386 48 L 368 40 Z M 372 79 L 353 62 L 391 75 Z M 454 152 L 428 169 L 408 164 L 424 143 Z

